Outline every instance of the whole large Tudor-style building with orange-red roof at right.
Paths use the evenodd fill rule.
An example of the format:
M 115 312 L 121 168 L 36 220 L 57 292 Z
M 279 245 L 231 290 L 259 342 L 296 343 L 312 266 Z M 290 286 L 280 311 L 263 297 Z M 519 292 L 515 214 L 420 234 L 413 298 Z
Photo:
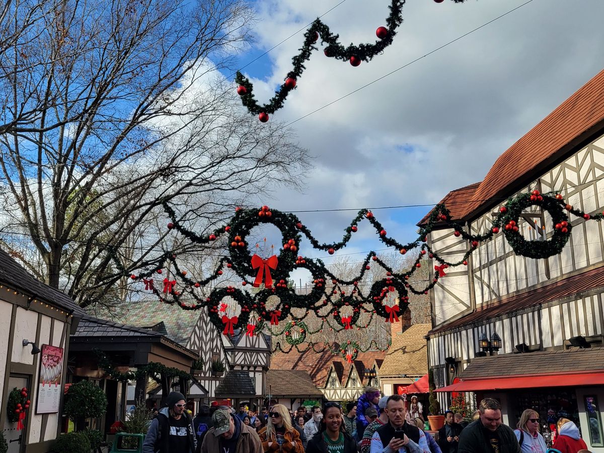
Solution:
M 504 152 L 483 181 L 451 191 L 442 202 L 452 218 L 469 233 L 483 233 L 505 199 L 535 189 L 561 193 L 586 213 L 602 212 L 603 99 L 604 71 Z M 431 292 L 429 367 L 437 387 L 448 386 L 443 406 L 447 391 L 465 391 L 470 399 L 499 398 L 512 426 L 530 406 L 542 419 L 564 415 L 580 425 L 591 451 L 603 452 L 604 359 L 595 346 L 604 333 L 604 225 L 570 220 L 571 239 L 559 255 L 517 256 L 500 233 L 480 243 L 467 267 L 446 270 Z M 525 239 L 551 238 L 547 213 L 527 210 L 519 223 Z M 442 227 L 428 238 L 449 262 L 470 247 L 453 233 Z M 501 349 L 476 358 L 483 333 L 489 340 L 497 333 Z

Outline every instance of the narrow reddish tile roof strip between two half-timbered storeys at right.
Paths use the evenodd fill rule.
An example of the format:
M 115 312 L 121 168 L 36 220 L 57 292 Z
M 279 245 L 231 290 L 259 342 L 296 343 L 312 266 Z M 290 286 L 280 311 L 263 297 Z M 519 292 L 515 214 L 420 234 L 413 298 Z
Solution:
M 489 304 L 489 306 L 479 307 L 475 312 L 431 330 L 429 335 L 447 332 L 448 330 L 468 326 L 473 323 L 484 323 L 496 316 L 538 306 L 582 291 L 599 288 L 600 286 L 604 286 L 604 266 L 554 281 L 541 288 L 504 297 L 493 304 Z

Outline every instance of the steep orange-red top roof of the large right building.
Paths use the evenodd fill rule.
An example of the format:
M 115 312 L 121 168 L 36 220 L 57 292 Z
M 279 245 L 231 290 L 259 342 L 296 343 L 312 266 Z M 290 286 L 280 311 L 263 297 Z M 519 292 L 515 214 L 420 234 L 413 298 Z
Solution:
M 460 218 L 492 205 L 484 200 L 507 198 L 535 179 L 535 172 L 593 137 L 603 126 L 604 71 L 600 71 L 495 161 Z

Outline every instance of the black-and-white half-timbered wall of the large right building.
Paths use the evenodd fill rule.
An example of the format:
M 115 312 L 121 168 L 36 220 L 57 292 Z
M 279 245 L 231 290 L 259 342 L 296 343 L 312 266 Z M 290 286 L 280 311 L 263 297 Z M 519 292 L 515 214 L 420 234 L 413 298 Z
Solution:
M 583 147 L 519 192 L 535 188 L 542 192 L 562 193 L 569 204 L 587 213 L 602 212 L 604 137 Z M 476 234 L 489 230 L 497 210 L 498 206 L 492 207 L 488 213 L 470 222 L 466 231 Z M 446 272 L 452 272 L 447 272 L 446 277 L 439 280 L 431 294 L 434 326 L 446 324 L 476 307 L 488 306 L 506 295 L 600 265 L 604 256 L 604 222 L 585 222 L 572 214 L 570 219 L 573 225 L 571 238 L 560 255 L 547 260 L 516 256 L 500 233 L 478 246 L 466 269 L 446 269 Z M 548 215 L 533 210 L 524 220 L 520 227 L 526 239 L 550 239 L 553 225 Z M 545 237 L 542 236 L 544 231 Z M 446 256 L 448 261 L 459 259 L 468 246 L 466 241 L 453 235 L 453 230 L 434 232 L 430 243 L 432 249 Z M 478 338 L 483 331 L 489 338 L 493 331 L 501 336 L 503 345 L 500 353 L 512 353 L 515 345 L 521 343 L 533 348 L 559 349 L 566 339 L 573 336 L 602 335 L 602 298 L 597 290 L 586 291 L 580 297 L 551 301 L 478 325 L 432 335 L 428 349 L 429 366 L 442 377 L 442 385 L 450 384 L 454 374 L 449 373 L 445 358 L 455 358 L 455 374 L 460 373 L 478 352 Z M 439 398 L 442 404 L 446 403 L 446 394 L 439 394 Z

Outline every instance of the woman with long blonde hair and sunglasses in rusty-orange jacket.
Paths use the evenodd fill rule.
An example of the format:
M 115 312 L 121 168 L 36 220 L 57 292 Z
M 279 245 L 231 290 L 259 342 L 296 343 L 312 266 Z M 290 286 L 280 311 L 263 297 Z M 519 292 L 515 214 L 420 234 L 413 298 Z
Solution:
M 292 426 L 288 408 L 275 404 L 268 413 L 268 423 L 258 433 L 265 453 L 304 453 L 300 434 Z

